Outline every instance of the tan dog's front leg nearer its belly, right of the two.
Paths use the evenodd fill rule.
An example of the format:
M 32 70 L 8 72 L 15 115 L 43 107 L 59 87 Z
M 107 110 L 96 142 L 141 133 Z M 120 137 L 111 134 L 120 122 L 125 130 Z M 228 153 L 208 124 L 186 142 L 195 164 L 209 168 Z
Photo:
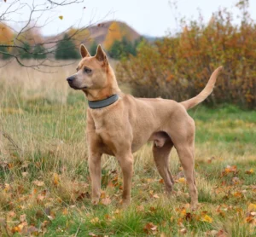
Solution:
M 123 172 L 123 205 L 130 205 L 131 203 L 131 178 L 133 174 L 133 156 L 132 153 L 125 153 L 117 155 Z

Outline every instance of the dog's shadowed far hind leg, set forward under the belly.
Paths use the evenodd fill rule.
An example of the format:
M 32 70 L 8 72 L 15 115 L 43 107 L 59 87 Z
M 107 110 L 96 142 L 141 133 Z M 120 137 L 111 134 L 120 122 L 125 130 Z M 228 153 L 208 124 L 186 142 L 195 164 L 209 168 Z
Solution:
M 174 184 L 172 174 L 168 167 L 169 155 L 172 150 L 172 147 L 173 143 L 170 138 L 166 140 L 163 147 L 157 147 L 156 144 L 153 145 L 154 162 L 157 167 L 157 170 L 160 173 L 160 176 L 163 178 L 165 182 L 167 193 L 170 193 L 172 191 L 172 186 Z

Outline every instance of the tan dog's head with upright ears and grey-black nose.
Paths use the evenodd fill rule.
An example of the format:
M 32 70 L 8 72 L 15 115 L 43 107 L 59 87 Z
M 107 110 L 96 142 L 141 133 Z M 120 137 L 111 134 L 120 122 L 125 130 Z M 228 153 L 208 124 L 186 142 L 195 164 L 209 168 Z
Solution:
M 82 60 L 79 62 L 77 72 L 67 78 L 67 83 L 74 90 L 101 90 L 108 84 L 108 58 L 98 45 L 96 55 L 90 56 L 84 44 L 80 46 Z

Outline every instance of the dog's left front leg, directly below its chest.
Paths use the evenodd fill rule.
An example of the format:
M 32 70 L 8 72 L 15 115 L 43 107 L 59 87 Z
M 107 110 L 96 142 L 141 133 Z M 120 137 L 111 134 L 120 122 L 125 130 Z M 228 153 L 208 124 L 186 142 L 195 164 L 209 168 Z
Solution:
M 102 181 L 102 167 L 101 167 L 101 153 L 90 154 L 89 156 L 89 171 L 91 179 L 91 202 L 98 204 L 101 196 L 101 181 Z

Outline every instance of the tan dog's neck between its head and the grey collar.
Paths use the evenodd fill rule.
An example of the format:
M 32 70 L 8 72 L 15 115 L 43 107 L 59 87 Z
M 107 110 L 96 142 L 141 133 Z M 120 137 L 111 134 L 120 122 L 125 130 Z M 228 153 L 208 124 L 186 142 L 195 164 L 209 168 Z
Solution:
M 106 86 L 101 89 L 84 90 L 88 101 L 102 101 L 121 92 L 111 66 L 107 69 L 107 80 Z

